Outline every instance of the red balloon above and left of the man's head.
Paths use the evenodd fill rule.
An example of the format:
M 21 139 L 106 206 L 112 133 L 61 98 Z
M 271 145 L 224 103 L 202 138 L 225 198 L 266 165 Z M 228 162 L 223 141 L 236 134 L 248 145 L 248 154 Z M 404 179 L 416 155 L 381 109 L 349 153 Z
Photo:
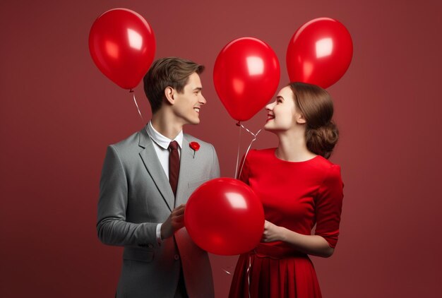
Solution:
M 124 89 L 140 83 L 152 64 L 155 47 L 149 23 L 130 9 L 106 11 L 90 28 L 89 51 L 95 65 Z

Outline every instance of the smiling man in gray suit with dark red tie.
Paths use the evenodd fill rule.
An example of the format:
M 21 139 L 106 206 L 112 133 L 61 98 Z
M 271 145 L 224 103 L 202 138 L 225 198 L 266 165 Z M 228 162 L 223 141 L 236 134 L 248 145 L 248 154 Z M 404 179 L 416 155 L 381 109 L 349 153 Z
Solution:
M 152 119 L 107 148 L 97 232 L 104 244 L 124 246 L 117 297 L 214 297 L 208 254 L 184 227 L 193 190 L 220 176 L 213 145 L 182 131 L 200 122 L 203 69 L 155 61 L 143 80 Z

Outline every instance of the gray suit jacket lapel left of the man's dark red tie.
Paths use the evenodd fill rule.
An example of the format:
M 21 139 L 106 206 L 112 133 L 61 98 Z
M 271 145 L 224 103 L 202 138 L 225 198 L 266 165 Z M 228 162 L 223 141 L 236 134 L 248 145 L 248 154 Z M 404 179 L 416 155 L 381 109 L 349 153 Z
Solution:
M 158 160 L 157 153 L 155 152 L 155 148 L 153 148 L 153 141 L 150 139 L 147 131 L 142 129 L 140 131 L 140 141 L 138 145 L 144 150 L 141 150 L 140 157 L 143 160 L 143 164 L 145 168 L 148 170 L 150 177 L 152 177 L 155 185 L 157 186 L 158 191 L 160 191 L 162 198 L 165 200 L 167 207 L 172 211 L 174 209 L 174 193 L 170 188 L 169 180 L 167 180 L 164 169 L 162 169 L 160 160 Z M 184 144 L 184 142 L 183 142 Z M 189 146 L 189 143 L 188 143 Z M 181 165 L 182 160 L 180 162 L 180 173 L 181 173 Z M 180 175 L 181 176 L 181 175 Z M 179 189 L 179 180 L 178 179 L 178 189 Z

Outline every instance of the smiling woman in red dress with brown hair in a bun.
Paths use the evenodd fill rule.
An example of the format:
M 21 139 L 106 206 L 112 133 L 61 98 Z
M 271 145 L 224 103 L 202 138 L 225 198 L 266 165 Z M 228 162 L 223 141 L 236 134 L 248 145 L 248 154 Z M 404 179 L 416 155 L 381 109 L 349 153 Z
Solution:
M 338 141 L 333 102 L 316 85 L 290 83 L 265 109 L 279 145 L 251 150 L 239 177 L 261 198 L 264 232 L 239 257 L 229 297 L 321 297 L 308 255 L 333 254 L 343 197 L 340 167 L 327 160 Z

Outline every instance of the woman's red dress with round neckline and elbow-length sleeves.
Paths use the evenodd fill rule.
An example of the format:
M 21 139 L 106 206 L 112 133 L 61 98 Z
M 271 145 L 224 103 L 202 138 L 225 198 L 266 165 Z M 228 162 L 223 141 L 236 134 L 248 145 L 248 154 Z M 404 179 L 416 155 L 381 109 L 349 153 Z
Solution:
M 287 162 L 276 157 L 275 148 L 251 150 L 239 179 L 261 198 L 265 220 L 306 235 L 316 224 L 315 234 L 335 248 L 343 197 L 340 166 L 319 155 Z M 309 256 L 284 242 L 260 243 L 239 256 L 229 297 L 249 297 L 249 290 L 252 298 L 321 297 Z

